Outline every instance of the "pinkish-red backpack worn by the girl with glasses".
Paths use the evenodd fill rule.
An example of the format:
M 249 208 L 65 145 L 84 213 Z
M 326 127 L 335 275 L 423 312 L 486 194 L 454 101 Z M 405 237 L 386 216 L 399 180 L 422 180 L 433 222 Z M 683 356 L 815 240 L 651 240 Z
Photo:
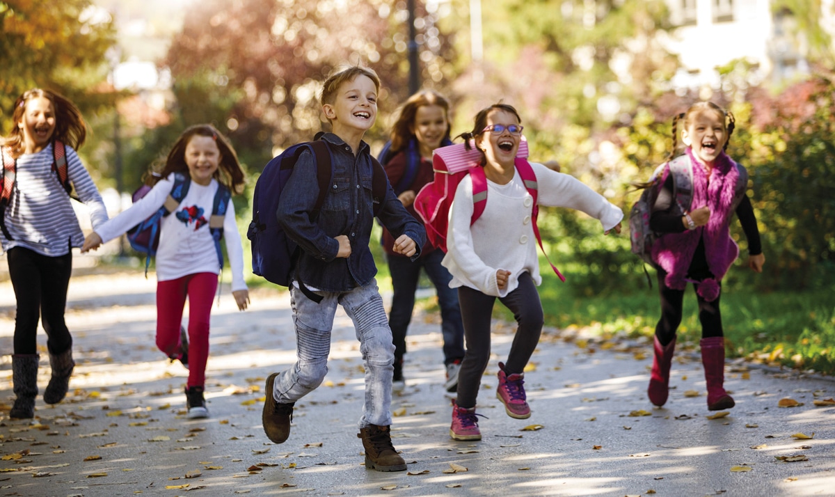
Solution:
M 534 235 L 539 242 L 539 248 L 545 254 L 542 246 L 542 239 L 539 236 L 539 227 L 536 225 L 536 218 L 539 215 L 539 190 L 536 175 L 528 160 L 528 142 L 522 139 L 519 144 L 519 151 L 516 153 L 516 170 L 524 181 L 528 193 L 534 197 L 534 205 L 531 208 L 531 220 L 533 221 Z M 449 227 L 449 207 L 453 204 L 455 190 L 458 183 L 466 175 L 473 180 L 473 217 L 470 218 L 470 226 L 478 220 L 487 205 L 487 177 L 484 169 L 479 165 L 481 154 L 474 147 L 467 150 L 464 144 L 448 145 L 439 147 L 433 153 L 432 167 L 435 172 L 434 180 L 423 186 L 417 192 L 414 200 L 414 207 L 417 214 L 423 218 L 423 225 L 426 226 L 426 238 L 433 247 L 447 251 L 447 230 Z M 565 281 L 565 277 L 551 263 L 548 254 L 545 254 L 548 263 L 559 279 Z

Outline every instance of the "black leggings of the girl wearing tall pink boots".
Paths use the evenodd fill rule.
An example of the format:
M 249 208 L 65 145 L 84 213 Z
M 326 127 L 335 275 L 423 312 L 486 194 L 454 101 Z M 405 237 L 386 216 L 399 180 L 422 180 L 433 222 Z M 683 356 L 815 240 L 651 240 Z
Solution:
M 658 291 L 661 297 L 661 318 L 655 325 L 655 336 L 661 345 L 666 345 L 676 337 L 676 329 L 681 324 L 682 308 L 684 306 L 684 290 L 673 290 L 667 287 L 664 278 L 666 271 L 658 269 Z M 721 282 L 719 283 L 721 288 Z M 693 285 L 696 288 L 696 285 Z M 713 302 L 706 302 L 698 293 L 696 300 L 699 302 L 699 322 L 701 322 L 701 337 L 721 337 L 722 316 L 719 312 L 719 297 Z

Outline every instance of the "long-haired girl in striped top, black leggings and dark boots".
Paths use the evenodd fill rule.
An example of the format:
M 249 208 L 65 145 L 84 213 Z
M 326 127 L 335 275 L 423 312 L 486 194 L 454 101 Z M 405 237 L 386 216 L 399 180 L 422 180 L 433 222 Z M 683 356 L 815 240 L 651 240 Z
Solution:
M 38 320 L 47 333 L 52 377 L 46 403 L 59 403 L 73 373 L 73 337 L 64 322 L 73 246 L 84 235 L 67 187 L 88 206 L 96 228 L 107 221 L 99 190 L 75 150 L 87 137 L 78 108 L 63 96 L 30 89 L 14 102 L 13 129 L 0 139 L 3 196 L 0 241 L 14 288 L 12 381 L 16 399 L 10 418 L 33 418 L 38 396 Z

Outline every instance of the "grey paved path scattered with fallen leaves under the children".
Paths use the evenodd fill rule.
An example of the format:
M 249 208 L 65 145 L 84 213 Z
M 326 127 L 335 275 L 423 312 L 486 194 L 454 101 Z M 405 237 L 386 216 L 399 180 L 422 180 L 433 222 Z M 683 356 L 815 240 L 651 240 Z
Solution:
M 264 378 L 295 358 L 281 292 L 256 292 L 242 313 L 228 292 L 221 297 L 207 372 L 211 418 L 189 420 L 186 371 L 154 347 L 154 287 L 154 276 L 145 280 L 140 271 L 73 278 L 67 320 L 78 362 L 74 391 L 54 408 L 38 398 L 33 423 L 7 418 L 11 360 L 2 357 L 0 495 L 835 494 L 835 407 L 813 405 L 835 396 L 831 380 L 732 363 L 726 387 L 736 408 L 709 419 L 701 364 L 684 351 L 673 366 L 669 403 L 653 409 L 645 396 L 648 344 L 553 329 L 527 373 L 533 416 L 520 421 L 494 397 L 496 363 L 512 339 L 512 329 L 497 323 L 495 356 L 478 398 L 478 412 L 488 416 L 480 423 L 483 440 L 455 442 L 432 315 L 418 315 L 412 325 L 408 388 L 392 405 L 394 442 L 408 472 L 362 466 L 362 362 L 342 313 L 326 383 L 297 404 L 290 439 L 271 444 L 261 429 Z M 6 354 L 13 309 L 11 285 L 0 282 Z M 43 348 L 41 393 L 49 374 Z M 699 396 L 686 396 L 688 390 Z M 803 405 L 778 408 L 786 397 Z M 633 415 L 641 410 L 648 415 Z M 529 425 L 541 428 L 521 431 Z M 807 460 L 776 459 L 801 454 Z M 180 485 L 188 486 L 166 488 Z

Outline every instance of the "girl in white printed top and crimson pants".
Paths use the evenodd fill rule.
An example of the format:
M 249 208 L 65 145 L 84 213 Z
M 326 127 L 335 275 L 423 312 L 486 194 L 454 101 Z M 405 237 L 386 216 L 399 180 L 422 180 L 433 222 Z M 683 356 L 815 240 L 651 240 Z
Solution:
M 171 149 L 164 169 L 152 179 L 156 182 L 153 189 L 119 216 L 99 226 L 84 241 L 82 251 L 95 250 L 159 210 L 169 199 L 175 173 L 187 174 L 190 185 L 176 209 L 160 222 L 156 253 L 156 344 L 166 356 L 179 359 L 189 368 L 185 388 L 188 416 L 205 418 L 209 415 L 203 392 L 209 358 L 210 312 L 221 269 L 209 220 L 220 184 L 233 192 L 240 192 L 244 184 L 244 173 L 228 139 L 210 124 L 186 129 Z M 223 238 L 232 269 L 232 296 L 243 311 L 250 299 L 231 199 L 223 219 Z M 180 332 L 186 297 L 189 299 L 187 336 L 185 329 Z

